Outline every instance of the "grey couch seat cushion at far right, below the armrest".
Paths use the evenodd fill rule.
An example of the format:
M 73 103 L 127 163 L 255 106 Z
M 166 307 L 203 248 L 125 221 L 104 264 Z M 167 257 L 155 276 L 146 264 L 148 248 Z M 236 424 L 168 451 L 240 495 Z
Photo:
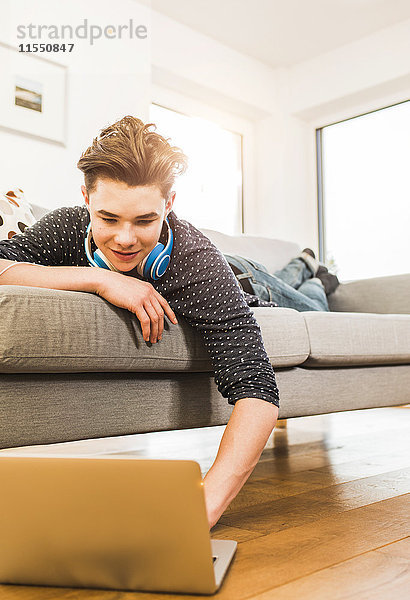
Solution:
M 310 340 L 304 367 L 410 364 L 410 315 L 301 314 Z

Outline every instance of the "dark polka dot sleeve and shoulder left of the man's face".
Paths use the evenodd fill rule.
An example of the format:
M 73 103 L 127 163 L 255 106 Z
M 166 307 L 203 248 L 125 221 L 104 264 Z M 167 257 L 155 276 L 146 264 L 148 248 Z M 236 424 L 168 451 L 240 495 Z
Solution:
M 46 266 L 78 264 L 80 236 L 75 225 L 76 208 L 57 208 L 23 233 L 0 241 L 0 258 Z

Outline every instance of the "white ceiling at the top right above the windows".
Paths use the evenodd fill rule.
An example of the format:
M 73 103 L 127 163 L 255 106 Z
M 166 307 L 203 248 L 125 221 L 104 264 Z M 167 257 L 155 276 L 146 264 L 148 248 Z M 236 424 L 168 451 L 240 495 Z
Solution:
M 410 18 L 409 0 L 151 0 L 271 67 L 290 67 Z

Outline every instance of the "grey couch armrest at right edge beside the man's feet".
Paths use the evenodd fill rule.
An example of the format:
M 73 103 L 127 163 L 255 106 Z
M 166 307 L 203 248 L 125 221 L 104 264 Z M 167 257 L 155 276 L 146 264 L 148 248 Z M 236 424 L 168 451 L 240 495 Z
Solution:
M 410 273 L 341 283 L 328 302 L 331 311 L 410 314 Z

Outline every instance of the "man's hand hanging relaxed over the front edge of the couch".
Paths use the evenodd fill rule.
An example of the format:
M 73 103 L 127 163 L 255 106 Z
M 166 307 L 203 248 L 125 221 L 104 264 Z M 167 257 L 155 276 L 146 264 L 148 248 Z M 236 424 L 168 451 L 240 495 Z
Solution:
M 140 323 L 144 340 L 155 344 L 162 338 L 164 313 L 178 323 L 174 311 L 163 296 L 148 282 L 127 277 L 115 271 L 101 270 L 96 294 L 134 313 Z

